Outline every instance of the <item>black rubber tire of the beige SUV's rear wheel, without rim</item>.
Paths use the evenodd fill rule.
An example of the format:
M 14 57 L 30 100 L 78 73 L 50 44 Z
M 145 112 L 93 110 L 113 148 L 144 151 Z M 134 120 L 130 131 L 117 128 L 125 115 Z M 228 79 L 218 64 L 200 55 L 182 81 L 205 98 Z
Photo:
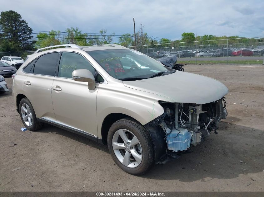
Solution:
M 23 120 L 22 118 L 22 111 L 21 111 L 21 106 L 23 104 L 27 104 L 31 110 L 31 113 L 32 113 L 32 125 L 31 126 L 27 126 L 25 124 L 25 121 Z M 36 114 L 35 114 L 35 111 L 33 109 L 33 106 L 31 104 L 31 102 L 28 100 L 28 98 L 22 98 L 20 103 L 19 103 L 19 114 L 20 114 L 20 118 L 22 120 L 22 123 L 24 124 L 24 126 L 27 128 L 27 130 L 30 130 L 30 131 L 36 131 L 38 129 L 40 129 L 42 126 L 43 126 L 43 123 L 42 122 L 39 122 L 37 121 L 37 117 L 36 117 Z

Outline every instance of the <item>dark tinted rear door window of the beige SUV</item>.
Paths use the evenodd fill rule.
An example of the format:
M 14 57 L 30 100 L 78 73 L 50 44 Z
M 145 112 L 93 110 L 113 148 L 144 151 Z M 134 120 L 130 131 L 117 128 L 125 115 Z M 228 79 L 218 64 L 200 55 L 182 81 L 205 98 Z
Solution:
M 58 56 L 58 52 L 40 56 L 35 63 L 33 73 L 55 76 Z

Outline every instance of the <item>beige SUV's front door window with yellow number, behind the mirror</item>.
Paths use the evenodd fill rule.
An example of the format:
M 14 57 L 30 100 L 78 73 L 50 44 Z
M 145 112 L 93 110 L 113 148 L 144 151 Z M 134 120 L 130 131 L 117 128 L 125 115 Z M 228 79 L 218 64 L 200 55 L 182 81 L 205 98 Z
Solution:
M 76 69 L 87 69 L 94 74 L 95 69 L 80 54 L 63 52 L 59 64 L 58 77 L 72 78 L 72 71 Z

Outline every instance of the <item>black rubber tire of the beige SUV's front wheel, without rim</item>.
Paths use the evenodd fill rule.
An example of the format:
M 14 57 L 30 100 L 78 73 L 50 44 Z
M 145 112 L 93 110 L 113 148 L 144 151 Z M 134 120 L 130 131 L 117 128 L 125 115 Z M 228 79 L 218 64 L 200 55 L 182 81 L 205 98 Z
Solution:
M 112 140 L 114 134 L 119 129 L 129 130 L 139 140 L 142 147 L 142 161 L 139 166 L 134 168 L 127 167 L 123 165 L 116 157 L 112 146 Z M 109 129 L 107 144 L 113 160 L 123 171 L 132 175 L 143 175 L 152 167 L 154 162 L 154 148 L 152 139 L 148 131 L 140 123 L 130 119 L 117 120 Z

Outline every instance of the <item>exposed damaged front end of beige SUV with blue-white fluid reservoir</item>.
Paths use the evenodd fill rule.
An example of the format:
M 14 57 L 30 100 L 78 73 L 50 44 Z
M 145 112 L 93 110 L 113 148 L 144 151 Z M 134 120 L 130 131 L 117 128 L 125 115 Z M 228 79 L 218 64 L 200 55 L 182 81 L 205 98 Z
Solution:
M 224 97 L 206 104 L 159 103 L 164 113 L 145 127 L 153 140 L 155 162 L 160 164 L 187 153 L 212 131 L 217 134 L 217 124 L 227 116 Z

